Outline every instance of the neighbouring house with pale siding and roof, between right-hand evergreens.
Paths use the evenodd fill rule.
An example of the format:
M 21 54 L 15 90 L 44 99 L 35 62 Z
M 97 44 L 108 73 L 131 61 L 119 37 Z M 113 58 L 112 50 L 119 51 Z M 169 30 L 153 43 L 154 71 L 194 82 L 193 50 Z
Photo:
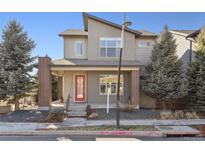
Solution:
M 194 59 L 195 40 L 191 34 L 194 30 L 171 30 L 170 31 L 176 40 L 176 54 L 182 60 L 183 66 L 187 66 Z

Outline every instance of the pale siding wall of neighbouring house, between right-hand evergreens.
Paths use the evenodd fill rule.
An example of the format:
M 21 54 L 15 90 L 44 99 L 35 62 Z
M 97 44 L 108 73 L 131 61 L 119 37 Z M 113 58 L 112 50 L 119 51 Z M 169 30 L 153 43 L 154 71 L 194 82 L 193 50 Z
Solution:
M 172 34 L 174 39 L 176 40 L 176 55 L 179 59 L 182 60 L 184 66 L 190 62 L 190 41 L 185 38 L 185 36 Z M 195 50 L 194 43 L 192 50 Z M 194 52 L 192 54 L 192 58 L 194 58 Z

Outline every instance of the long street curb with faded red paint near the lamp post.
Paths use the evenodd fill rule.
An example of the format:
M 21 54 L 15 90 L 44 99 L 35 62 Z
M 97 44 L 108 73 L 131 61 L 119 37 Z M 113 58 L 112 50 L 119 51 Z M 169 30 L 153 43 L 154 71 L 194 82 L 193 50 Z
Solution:
M 34 136 L 34 135 L 98 135 L 98 136 L 139 136 L 139 137 L 163 137 L 159 131 L 26 131 L 26 132 L 0 132 L 0 136 Z

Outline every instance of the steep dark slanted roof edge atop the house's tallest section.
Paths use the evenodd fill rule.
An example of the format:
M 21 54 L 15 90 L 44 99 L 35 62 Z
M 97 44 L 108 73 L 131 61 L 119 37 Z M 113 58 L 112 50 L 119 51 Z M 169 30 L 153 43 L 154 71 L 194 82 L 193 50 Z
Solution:
M 93 20 L 98 21 L 98 22 L 101 22 L 101 23 L 104 23 L 104 24 L 107 24 L 107 25 L 110 25 L 110 26 L 113 26 L 113 27 L 118 28 L 118 29 L 122 29 L 122 25 L 118 25 L 116 23 L 113 23 L 113 22 L 110 22 L 108 20 L 93 16 L 93 15 L 88 14 L 88 13 L 83 13 L 84 28 L 86 31 L 88 30 L 88 18 L 93 19 Z M 130 29 L 130 28 L 125 28 L 125 31 L 133 33 L 133 34 L 138 35 L 138 36 L 140 36 L 142 34 L 141 32 Z

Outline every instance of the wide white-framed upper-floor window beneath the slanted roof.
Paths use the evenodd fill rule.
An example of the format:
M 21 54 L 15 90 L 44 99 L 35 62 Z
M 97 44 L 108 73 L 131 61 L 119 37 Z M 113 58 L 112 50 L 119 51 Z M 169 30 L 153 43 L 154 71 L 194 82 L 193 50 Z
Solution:
M 120 53 L 120 38 L 101 38 L 100 39 L 100 56 L 101 57 L 118 57 Z

